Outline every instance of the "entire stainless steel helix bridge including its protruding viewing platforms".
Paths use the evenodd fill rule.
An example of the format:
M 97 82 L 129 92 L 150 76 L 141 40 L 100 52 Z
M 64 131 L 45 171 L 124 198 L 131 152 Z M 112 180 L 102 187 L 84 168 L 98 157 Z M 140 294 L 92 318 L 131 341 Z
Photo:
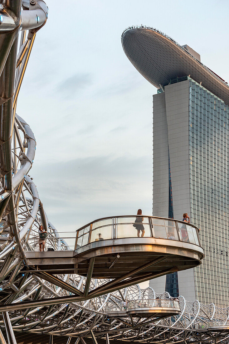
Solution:
M 0 343 L 219 343 L 229 338 L 229 310 L 137 282 L 200 264 L 195 226 L 133 216 L 94 221 L 74 237 L 48 222 L 33 178 L 36 140 L 16 114 L 19 90 L 37 31 L 42 0 L 0 1 Z M 137 219 L 137 217 L 136 217 Z M 54 251 L 38 252 L 38 228 Z M 135 234 L 128 234 L 133 230 Z M 142 227 L 141 227 L 142 228 Z M 47 246 L 46 245 L 46 246 Z M 43 267 L 43 268 L 42 268 Z M 42 339 L 39 339 L 42 338 Z

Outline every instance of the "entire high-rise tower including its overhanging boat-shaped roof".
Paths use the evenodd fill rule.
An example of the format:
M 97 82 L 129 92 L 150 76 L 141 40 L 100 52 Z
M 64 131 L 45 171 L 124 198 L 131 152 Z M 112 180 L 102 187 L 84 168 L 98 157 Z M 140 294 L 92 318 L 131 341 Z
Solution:
M 122 34 L 130 62 L 152 85 L 153 215 L 200 228 L 202 265 L 152 280 L 156 291 L 229 306 L 229 87 L 200 55 L 141 26 Z

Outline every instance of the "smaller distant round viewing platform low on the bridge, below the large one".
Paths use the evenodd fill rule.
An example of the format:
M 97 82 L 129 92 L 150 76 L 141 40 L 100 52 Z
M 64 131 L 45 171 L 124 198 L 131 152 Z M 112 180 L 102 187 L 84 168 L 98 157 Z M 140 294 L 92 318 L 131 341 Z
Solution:
M 123 318 L 134 316 L 138 318 L 152 318 L 162 319 L 168 316 L 180 313 L 180 306 L 178 300 L 170 299 L 138 299 L 130 300 L 126 305 L 123 303 L 107 305 L 105 312 L 111 318 Z

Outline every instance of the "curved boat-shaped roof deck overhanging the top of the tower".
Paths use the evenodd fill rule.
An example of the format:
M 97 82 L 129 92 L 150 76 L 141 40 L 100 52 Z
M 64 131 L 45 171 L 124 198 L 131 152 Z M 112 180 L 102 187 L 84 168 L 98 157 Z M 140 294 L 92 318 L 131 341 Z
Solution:
M 229 86 L 221 77 L 164 33 L 132 26 L 122 34 L 122 46 L 130 62 L 152 85 L 168 85 L 171 79 L 190 76 L 229 105 Z M 188 51 L 189 50 L 189 51 Z

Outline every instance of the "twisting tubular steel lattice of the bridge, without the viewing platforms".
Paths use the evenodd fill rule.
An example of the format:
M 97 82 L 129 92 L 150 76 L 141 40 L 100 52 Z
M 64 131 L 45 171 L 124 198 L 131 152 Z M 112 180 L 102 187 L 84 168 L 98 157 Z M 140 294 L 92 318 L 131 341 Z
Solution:
M 21 8 L 23 11 L 21 11 Z M 125 313 L 130 300 L 171 300 L 168 293 L 156 294 L 138 285 L 100 295 L 93 299 L 56 304 L 52 299 L 82 294 L 109 280 L 91 279 L 75 274 L 57 276 L 66 288 L 26 272 L 26 251 L 37 250 L 37 231 L 42 223 L 49 233 L 49 247 L 69 250 L 55 227 L 48 222 L 41 200 L 28 175 L 35 156 L 36 141 L 29 125 L 16 114 L 19 90 L 36 32 L 45 24 L 48 8 L 42 0 L 6 0 L 0 2 L 0 307 L 5 307 L 0 326 L 8 342 L 15 343 L 14 332 L 48 333 L 67 337 L 92 337 L 153 343 L 219 343 L 226 331 L 210 331 L 210 322 L 228 324 L 229 310 L 214 304 L 187 302 L 179 297 L 180 313 L 165 319 L 124 314 L 112 316 L 112 310 Z M 19 40 L 19 33 L 21 38 Z M 7 311 L 8 304 L 48 300 L 48 305 Z M 144 301 L 145 302 L 145 301 Z M 136 302 L 135 302 L 136 304 Z M 150 303 L 149 303 L 150 304 Z M 109 314 L 108 311 L 109 310 Z M 206 330 L 205 330 L 206 329 Z M 1 341 L 2 335 L 0 333 Z

